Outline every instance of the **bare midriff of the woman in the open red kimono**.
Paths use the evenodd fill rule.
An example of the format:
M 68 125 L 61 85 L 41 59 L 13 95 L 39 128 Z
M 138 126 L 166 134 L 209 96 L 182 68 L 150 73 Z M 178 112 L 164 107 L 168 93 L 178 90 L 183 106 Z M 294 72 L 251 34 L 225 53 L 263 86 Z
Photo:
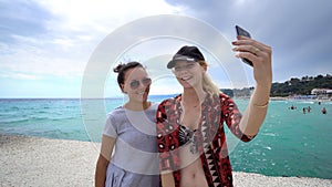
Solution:
M 180 150 L 180 187 L 208 187 L 198 153 L 191 154 L 189 145 L 185 145 Z

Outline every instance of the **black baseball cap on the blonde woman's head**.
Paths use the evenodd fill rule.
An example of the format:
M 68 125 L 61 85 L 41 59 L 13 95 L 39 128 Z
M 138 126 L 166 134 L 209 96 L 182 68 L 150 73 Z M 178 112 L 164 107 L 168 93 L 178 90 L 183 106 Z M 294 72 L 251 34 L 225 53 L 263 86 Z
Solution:
M 183 46 L 178 52 L 173 56 L 172 61 L 168 62 L 167 69 L 174 67 L 176 61 L 188 61 L 197 62 L 204 61 L 204 56 L 197 46 Z

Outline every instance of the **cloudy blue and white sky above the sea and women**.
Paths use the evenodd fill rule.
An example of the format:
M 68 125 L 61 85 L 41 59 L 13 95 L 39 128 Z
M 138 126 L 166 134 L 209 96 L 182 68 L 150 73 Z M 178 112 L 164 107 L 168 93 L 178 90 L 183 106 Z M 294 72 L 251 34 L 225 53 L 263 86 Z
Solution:
M 185 44 L 218 86 L 252 86 L 229 50 L 236 24 L 272 48 L 273 82 L 332 74 L 331 20 L 329 0 L 0 0 L 0 97 L 118 96 L 112 69 L 128 61 L 151 94 L 178 93 L 165 65 Z

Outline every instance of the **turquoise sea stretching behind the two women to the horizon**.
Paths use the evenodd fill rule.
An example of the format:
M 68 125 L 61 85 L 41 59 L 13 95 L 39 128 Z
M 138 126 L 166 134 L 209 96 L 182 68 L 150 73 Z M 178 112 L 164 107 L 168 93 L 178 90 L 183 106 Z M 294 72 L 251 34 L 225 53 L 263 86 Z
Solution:
M 168 96 L 152 96 L 159 102 Z M 105 114 L 124 98 L 0 98 L 0 134 L 100 142 Z M 243 112 L 248 100 L 236 100 Z M 289 110 L 291 105 L 297 110 Z M 303 114 L 303 107 L 311 112 Z M 322 114 L 325 107 L 328 113 Z M 228 129 L 228 128 L 227 128 Z M 271 101 L 259 135 L 241 143 L 227 131 L 234 170 L 332 179 L 332 102 Z

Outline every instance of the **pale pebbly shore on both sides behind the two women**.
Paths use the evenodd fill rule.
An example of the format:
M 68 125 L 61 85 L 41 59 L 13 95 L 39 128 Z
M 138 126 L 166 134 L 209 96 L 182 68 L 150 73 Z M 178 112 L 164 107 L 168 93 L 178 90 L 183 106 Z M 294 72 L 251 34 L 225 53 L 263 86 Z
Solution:
M 0 186 L 94 186 L 100 144 L 0 134 Z M 245 187 L 332 186 L 332 179 L 234 172 Z

